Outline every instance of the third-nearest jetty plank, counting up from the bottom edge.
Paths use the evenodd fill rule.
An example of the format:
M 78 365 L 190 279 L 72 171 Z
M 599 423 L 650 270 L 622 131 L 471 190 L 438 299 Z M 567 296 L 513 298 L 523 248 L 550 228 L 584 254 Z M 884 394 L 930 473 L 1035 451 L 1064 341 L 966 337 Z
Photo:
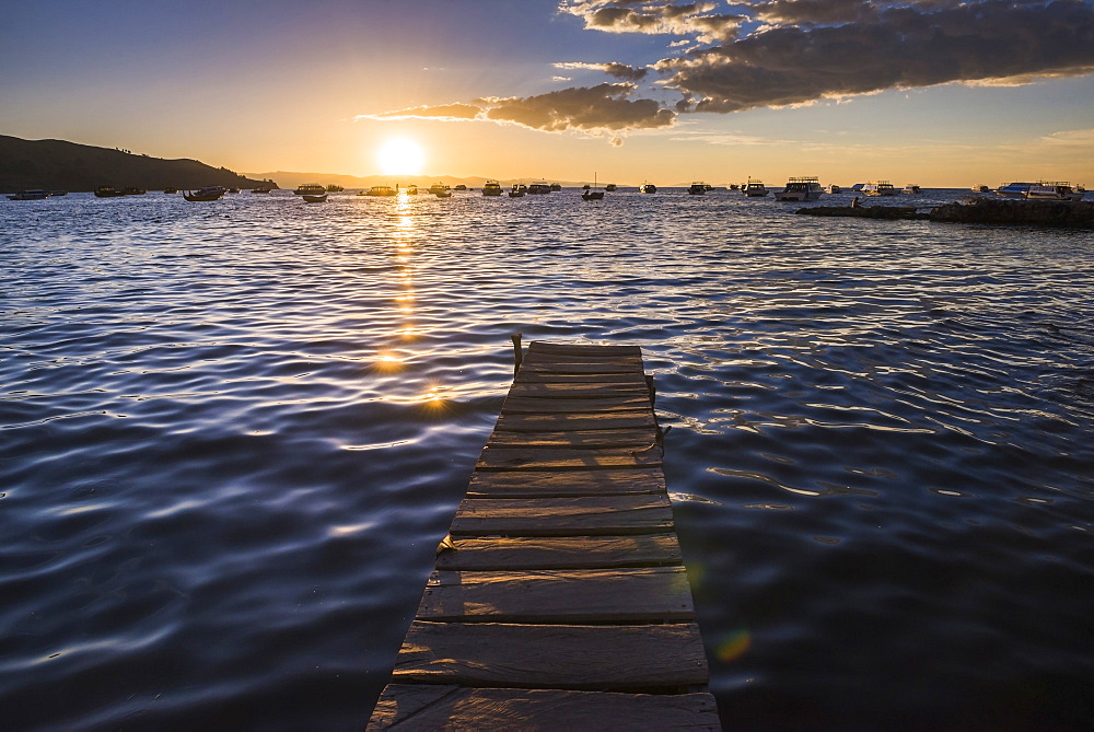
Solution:
M 419 620 L 680 623 L 695 619 L 683 567 L 434 570 Z

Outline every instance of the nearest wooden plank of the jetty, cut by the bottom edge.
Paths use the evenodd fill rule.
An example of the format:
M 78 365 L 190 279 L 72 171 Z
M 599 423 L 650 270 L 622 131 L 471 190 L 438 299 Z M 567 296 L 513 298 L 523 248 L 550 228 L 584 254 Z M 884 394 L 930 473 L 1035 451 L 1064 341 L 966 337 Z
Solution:
M 368 730 L 721 730 L 708 693 L 613 694 L 389 684 Z

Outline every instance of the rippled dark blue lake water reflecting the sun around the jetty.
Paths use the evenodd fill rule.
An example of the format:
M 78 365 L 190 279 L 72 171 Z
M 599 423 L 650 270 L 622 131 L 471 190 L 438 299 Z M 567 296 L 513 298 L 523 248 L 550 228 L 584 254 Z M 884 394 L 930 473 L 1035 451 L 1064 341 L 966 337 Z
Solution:
M 642 347 L 728 727 L 1087 727 L 1094 233 L 796 208 L 3 201 L 3 727 L 361 729 L 513 333 Z

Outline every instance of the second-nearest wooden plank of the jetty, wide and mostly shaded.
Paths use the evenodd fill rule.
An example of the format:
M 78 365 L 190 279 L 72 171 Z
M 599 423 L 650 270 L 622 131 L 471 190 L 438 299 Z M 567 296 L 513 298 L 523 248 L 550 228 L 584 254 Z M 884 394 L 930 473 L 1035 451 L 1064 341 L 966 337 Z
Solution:
M 395 660 L 399 684 L 667 689 L 708 682 L 699 627 L 415 620 Z

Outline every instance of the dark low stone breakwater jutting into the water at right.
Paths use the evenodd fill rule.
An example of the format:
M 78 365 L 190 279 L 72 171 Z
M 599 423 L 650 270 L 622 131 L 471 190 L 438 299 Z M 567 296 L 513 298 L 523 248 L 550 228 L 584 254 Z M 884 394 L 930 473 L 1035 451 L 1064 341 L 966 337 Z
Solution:
M 823 217 L 930 220 L 947 223 L 990 223 L 1025 226 L 1094 228 L 1094 201 L 966 198 L 921 211 L 913 206 L 816 206 L 799 213 Z

